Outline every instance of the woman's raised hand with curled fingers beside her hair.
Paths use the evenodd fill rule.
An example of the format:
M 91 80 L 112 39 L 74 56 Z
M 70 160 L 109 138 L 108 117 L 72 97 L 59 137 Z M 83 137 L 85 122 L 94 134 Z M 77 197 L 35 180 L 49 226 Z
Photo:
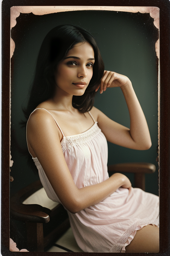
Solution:
M 108 87 L 122 87 L 127 85 L 127 83 L 131 82 L 125 75 L 105 70 L 100 84 L 97 86 L 95 91 L 100 88 L 100 93 L 103 93 L 103 91 L 105 91 Z

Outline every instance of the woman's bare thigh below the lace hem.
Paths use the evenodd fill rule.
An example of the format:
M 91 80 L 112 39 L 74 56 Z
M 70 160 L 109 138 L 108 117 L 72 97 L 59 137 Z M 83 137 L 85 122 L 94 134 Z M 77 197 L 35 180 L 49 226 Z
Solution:
M 125 247 L 126 253 L 158 253 L 159 228 L 147 225 L 136 231 L 134 239 Z

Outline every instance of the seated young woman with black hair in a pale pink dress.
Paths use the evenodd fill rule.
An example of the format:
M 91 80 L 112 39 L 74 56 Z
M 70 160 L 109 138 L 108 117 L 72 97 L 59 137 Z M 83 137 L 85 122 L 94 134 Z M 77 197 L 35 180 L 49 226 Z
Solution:
M 93 107 L 97 90 L 120 87 L 130 129 Z M 114 89 L 109 89 L 114 90 Z M 85 252 L 158 252 L 158 196 L 132 188 L 120 173 L 108 177 L 107 140 L 150 148 L 144 113 L 130 80 L 104 71 L 96 41 L 62 25 L 45 37 L 26 110 L 27 142 L 50 199 L 68 211 Z

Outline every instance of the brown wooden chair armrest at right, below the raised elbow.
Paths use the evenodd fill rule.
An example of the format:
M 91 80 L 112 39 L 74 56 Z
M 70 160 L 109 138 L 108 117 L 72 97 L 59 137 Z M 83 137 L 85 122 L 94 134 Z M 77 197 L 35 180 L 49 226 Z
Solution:
M 108 165 L 108 172 L 155 173 L 156 166 L 152 163 L 117 163 Z

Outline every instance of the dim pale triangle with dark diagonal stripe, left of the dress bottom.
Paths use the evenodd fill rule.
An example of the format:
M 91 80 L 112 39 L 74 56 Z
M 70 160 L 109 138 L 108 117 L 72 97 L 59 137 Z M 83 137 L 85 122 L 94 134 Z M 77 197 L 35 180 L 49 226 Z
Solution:
M 77 245 L 72 229 L 69 228 L 60 239 L 48 250 L 48 252 L 83 252 Z

